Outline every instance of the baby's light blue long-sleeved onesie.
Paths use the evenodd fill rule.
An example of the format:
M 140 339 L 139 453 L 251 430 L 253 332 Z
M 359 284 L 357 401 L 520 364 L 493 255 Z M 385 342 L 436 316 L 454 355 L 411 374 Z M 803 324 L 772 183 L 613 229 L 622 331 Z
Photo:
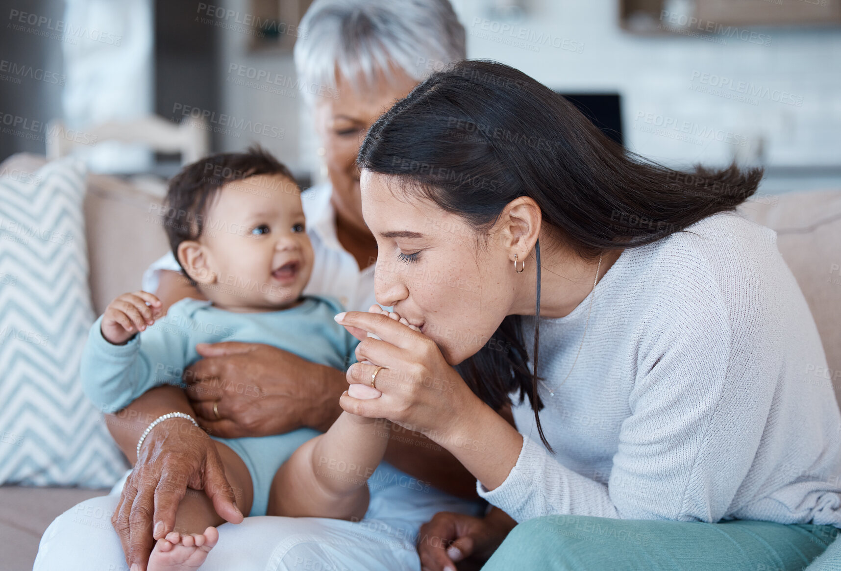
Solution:
M 153 387 L 183 386 L 184 369 L 199 358 L 196 344 L 220 341 L 264 343 L 345 370 L 356 360 L 357 341 L 333 320 L 343 310 L 336 300 L 317 296 L 306 296 L 293 308 L 257 313 L 235 313 L 188 298 L 173 304 L 166 316 L 125 345 L 112 345 L 103 338 L 100 317 L 82 355 L 82 387 L 100 410 L 112 413 Z M 234 389 L 261 398 L 259 383 L 252 379 L 243 378 Z M 211 438 L 225 443 L 246 463 L 254 484 L 249 515 L 266 515 L 274 474 L 292 452 L 318 434 L 299 428 L 276 436 Z

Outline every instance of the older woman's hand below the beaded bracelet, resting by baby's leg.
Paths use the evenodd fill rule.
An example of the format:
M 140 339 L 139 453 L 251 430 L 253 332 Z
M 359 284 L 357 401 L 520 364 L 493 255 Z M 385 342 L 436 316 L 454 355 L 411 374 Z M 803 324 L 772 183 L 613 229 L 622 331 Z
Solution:
M 164 420 L 143 441 L 111 516 L 129 567 L 136 563 L 141 570 L 146 568 L 155 541 L 175 527 L 178 504 L 188 487 L 204 489 L 225 520 L 242 521 L 210 437 L 189 420 Z

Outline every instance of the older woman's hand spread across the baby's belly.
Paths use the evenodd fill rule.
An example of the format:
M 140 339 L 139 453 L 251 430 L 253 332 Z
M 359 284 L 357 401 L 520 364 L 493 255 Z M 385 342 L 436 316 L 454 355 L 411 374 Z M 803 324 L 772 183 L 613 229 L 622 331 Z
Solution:
M 324 418 L 330 426 L 341 413 L 336 402 L 343 390 L 341 371 L 260 343 L 201 343 L 196 351 L 204 358 L 184 372 L 183 380 L 196 420 L 214 436 L 320 428 L 323 423 L 315 419 Z M 325 385 L 328 378 L 335 386 Z

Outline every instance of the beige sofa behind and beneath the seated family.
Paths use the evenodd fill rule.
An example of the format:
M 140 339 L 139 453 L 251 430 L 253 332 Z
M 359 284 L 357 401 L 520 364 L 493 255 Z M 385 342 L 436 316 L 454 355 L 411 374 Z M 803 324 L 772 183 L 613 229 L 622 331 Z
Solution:
M 41 156 L 11 156 L 0 164 L 0 177 L 8 172 L 34 172 L 44 163 Z M 167 251 L 155 219 L 161 188 L 88 176 L 85 234 L 97 314 L 117 294 L 139 288 L 145 267 Z M 739 211 L 777 231 L 780 252 L 812 308 L 828 357 L 828 371 L 808 374 L 819 382 L 837 381 L 833 387 L 841 401 L 841 190 L 763 195 Z M 50 521 L 82 500 L 107 493 L 108 489 L 0 487 L 0 567 L 31 569 Z

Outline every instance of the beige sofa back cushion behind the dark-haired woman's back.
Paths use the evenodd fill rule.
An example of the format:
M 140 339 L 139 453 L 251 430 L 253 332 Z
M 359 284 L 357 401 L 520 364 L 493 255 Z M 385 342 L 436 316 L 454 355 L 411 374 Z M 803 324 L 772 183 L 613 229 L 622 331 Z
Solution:
M 832 383 L 841 404 L 841 190 L 764 196 L 739 211 L 776 230 L 827 353 L 829 370 L 816 366 L 804 380 Z

